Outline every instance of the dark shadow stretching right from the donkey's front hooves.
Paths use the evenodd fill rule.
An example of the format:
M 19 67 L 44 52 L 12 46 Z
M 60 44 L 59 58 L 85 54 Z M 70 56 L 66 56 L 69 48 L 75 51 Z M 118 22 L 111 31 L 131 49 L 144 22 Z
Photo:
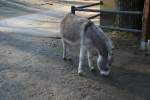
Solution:
M 126 90 L 128 94 L 142 97 L 144 100 L 150 99 L 150 74 L 148 73 L 113 66 L 109 77 L 102 77 L 98 70 L 93 73 L 86 70 L 86 75 L 83 77 L 90 78 L 99 84 L 102 84 L 103 80 L 109 86 Z

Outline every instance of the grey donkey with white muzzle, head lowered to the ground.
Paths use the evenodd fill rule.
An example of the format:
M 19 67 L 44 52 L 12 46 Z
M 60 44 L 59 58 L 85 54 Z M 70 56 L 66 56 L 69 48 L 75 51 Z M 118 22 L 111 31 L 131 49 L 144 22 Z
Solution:
M 92 58 L 93 49 L 98 54 L 97 66 L 100 74 L 108 76 L 112 63 L 113 44 L 110 38 L 104 34 L 102 29 L 89 19 L 79 17 L 74 14 L 67 14 L 60 24 L 60 33 L 63 44 L 63 59 L 67 59 L 67 49 L 69 45 L 80 46 L 78 74 L 82 75 L 83 60 L 87 51 L 88 65 L 94 70 Z

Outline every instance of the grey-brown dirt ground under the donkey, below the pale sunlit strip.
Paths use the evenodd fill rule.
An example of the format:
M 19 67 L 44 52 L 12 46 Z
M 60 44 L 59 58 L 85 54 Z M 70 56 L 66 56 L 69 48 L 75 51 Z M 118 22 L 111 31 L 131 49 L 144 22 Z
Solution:
M 150 57 L 134 54 L 133 41 L 113 42 L 111 75 L 90 72 L 85 61 L 81 77 L 78 49 L 72 48 L 72 61 L 64 61 L 59 39 L 1 32 L 0 100 L 150 100 Z

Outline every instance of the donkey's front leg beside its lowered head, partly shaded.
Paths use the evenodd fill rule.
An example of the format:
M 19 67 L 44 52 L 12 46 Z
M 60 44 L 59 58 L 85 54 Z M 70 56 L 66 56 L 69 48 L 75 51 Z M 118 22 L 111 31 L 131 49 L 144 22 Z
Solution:
M 87 48 L 87 58 L 88 58 L 88 64 L 91 71 L 94 71 L 92 47 Z

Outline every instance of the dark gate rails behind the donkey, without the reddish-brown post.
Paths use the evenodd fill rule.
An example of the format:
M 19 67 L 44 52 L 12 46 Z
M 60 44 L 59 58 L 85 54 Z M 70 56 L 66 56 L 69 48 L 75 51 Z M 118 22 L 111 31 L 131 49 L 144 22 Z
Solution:
M 90 5 L 79 6 L 79 7 L 72 6 L 71 7 L 71 13 L 75 14 L 76 11 L 97 12 L 98 13 L 94 16 L 89 17 L 89 19 L 94 19 L 98 16 L 101 16 L 101 13 L 143 16 L 143 12 L 140 12 L 140 11 L 112 11 L 112 10 L 87 9 L 87 7 L 92 7 L 92 6 L 96 6 L 96 5 L 102 5 L 102 4 L 103 4 L 103 2 L 94 3 L 94 4 L 90 4 Z M 141 18 L 141 21 L 142 21 L 142 18 Z M 111 30 L 116 30 L 116 31 L 126 31 L 126 32 L 134 32 L 134 33 L 142 33 L 143 32 L 142 30 L 139 30 L 139 29 L 110 27 L 110 26 L 102 26 L 102 25 L 100 25 L 100 27 L 104 28 L 104 29 L 111 29 Z

